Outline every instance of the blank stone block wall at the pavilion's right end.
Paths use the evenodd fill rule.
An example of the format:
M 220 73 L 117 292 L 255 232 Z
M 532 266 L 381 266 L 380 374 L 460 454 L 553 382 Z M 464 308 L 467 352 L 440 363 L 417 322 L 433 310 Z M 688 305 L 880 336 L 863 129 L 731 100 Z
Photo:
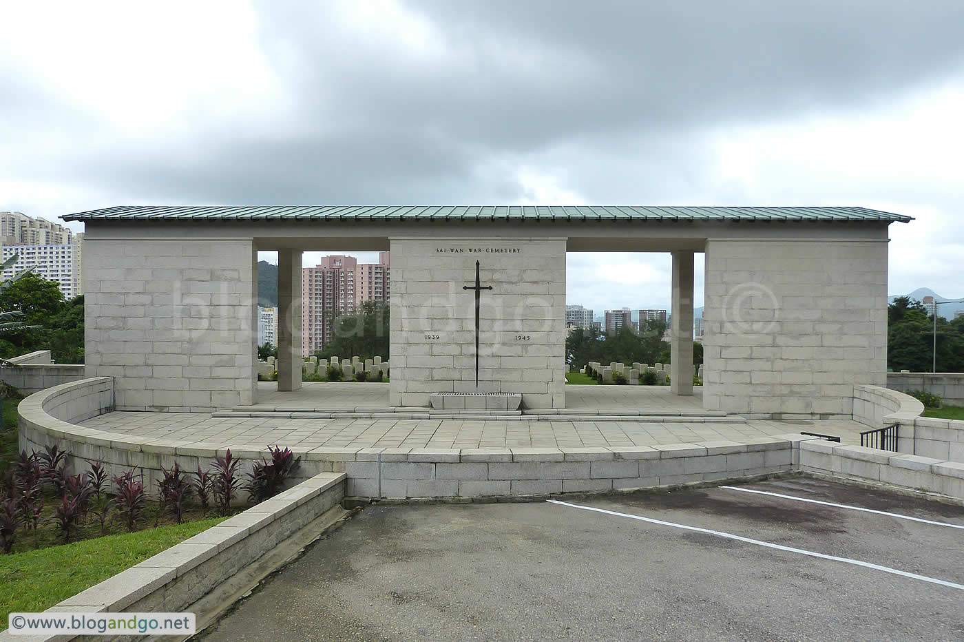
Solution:
M 850 418 L 855 385 L 885 385 L 887 243 L 710 240 L 704 406 Z

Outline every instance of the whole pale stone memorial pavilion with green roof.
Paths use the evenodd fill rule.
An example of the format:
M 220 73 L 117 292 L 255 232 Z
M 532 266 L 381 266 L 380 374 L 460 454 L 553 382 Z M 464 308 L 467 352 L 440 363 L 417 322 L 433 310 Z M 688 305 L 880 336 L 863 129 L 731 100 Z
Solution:
M 302 387 L 306 251 L 391 253 L 387 406 L 566 406 L 566 253 L 673 257 L 671 391 L 693 394 L 704 253 L 708 411 L 850 418 L 885 385 L 888 227 L 862 207 L 121 206 L 85 224 L 86 375 L 118 411 L 257 402 L 257 252 L 279 254 L 278 390 Z M 347 357 L 351 357 L 348 355 Z M 504 405 L 502 406 L 505 407 Z

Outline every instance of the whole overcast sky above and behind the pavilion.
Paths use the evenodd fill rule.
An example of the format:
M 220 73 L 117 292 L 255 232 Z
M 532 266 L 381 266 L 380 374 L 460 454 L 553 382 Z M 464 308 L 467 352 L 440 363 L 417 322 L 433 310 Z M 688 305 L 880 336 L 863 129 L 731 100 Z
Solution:
M 961 0 L 0 7 L 0 210 L 862 205 L 917 218 L 891 293 L 964 297 Z M 570 254 L 568 299 L 669 279 Z

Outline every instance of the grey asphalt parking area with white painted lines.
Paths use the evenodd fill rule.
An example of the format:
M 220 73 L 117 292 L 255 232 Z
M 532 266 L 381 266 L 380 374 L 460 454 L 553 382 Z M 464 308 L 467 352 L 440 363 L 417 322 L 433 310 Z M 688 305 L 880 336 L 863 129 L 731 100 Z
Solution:
M 964 507 L 805 478 L 564 501 L 365 508 L 200 637 L 964 639 Z

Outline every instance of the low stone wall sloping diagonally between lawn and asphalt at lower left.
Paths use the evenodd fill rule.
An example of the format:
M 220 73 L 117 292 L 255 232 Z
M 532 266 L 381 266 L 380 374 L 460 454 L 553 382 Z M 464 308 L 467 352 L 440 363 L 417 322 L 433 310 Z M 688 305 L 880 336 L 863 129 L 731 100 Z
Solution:
M 212 526 L 46 612 L 179 612 L 254 563 L 344 498 L 344 474 L 316 475 L 294 488 Z M 199 619 L 202 613 L 198 613 Z M 9 631 L 0 639 L 23 636 Z M 30 639 L 70 639 L 38 635 Z M 131 639 L 130 636 L 96 639 Z

